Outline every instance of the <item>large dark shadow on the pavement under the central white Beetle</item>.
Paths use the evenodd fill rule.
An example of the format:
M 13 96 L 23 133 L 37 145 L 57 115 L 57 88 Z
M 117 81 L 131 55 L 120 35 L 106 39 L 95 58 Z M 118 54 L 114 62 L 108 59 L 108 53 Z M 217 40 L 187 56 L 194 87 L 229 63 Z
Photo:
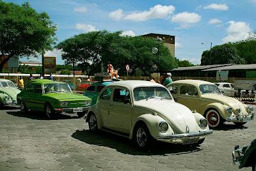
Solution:
M 97 133 L 92 133 L 90 130 L 76 130 L 71 137 L 80 140 L 86 144 L 99 145 L 104 147 L 109 147 L 111 149 L 116 149 L 116 151 L 122 152 L 124 154 L 132 155 L 166 155 L 166 154 L 185 154 L 195 151 L 201 151 L 200 147 L 195 147 L 191 145 L 178 145 L 178 144 L 168 144 L 164 142 L 154 142 L 149 151 L 142 151 L 138 149 L 132 140 L 128 138 L 120 137 L 112 133 L 105 131 L 98 131 Z

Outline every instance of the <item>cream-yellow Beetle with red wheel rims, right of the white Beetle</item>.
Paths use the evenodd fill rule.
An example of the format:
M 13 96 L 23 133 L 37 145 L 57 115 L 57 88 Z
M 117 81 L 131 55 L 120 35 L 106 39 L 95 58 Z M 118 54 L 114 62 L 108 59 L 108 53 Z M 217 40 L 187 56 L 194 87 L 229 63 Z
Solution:
M 225 121 L 243 125 L 254 117 L 252 107 L 224 96 L 218 87 L 202 80 L 177 80 L 166 85 L 178 103 L 204 115 L 212 128 Z

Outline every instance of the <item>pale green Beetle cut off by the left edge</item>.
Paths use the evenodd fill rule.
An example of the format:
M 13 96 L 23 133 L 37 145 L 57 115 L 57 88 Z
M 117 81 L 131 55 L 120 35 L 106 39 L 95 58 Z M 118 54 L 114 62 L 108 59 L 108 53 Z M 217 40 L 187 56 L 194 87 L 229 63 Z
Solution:
M 0 108 L 4 105 L 17 105 L 17 94 L 20 90 L 12 81 L 0 78 Z

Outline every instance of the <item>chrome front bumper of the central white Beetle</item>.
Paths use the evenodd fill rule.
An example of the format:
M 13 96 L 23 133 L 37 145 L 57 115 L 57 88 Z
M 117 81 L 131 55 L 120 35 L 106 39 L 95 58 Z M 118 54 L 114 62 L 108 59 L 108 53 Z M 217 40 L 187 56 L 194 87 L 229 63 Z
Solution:
M 157 140 L 160 140 L 160 141 L 185 140 L 189 138 L 205 137 L 211 133 L 212 133 L 212 130 L 198 132 L 198 133 L 181 133 L 181 134 L 173 134 L 173 135 L 164 135 L 164 136 L 157 136 Z

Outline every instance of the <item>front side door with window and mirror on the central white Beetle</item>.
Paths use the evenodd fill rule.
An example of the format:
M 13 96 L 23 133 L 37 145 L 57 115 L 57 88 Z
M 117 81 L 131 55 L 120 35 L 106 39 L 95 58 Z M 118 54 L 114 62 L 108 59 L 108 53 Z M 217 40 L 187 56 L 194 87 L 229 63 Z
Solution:
M 132 105 L 124 103 L 125 100 L 131 101 L 131 92 L 125 87 L 116 87 L 113 91 L 113 101 L 109 108 L 109 128 L 122 133 L 130 133 Z

